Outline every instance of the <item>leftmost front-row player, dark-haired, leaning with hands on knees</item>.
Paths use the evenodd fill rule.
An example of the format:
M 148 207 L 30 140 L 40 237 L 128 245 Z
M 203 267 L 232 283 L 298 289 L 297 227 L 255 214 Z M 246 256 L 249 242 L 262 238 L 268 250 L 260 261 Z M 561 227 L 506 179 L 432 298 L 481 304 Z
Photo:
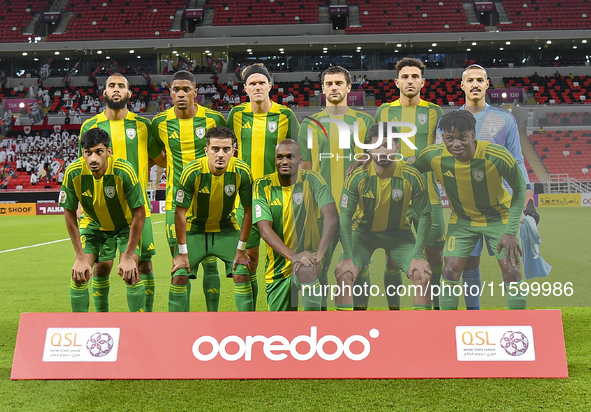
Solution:
M 82 157 L 66 169 L 59 194 L 66 228 L 76 252 L 70 282 L 73 312 L 88 312 L 88 281 L 103 244 L 115 239 L 120 252 L 117 273 L 127 285 L 130 312 L 143 312 L 144 283 L 138 272 L 138 246 L 144 226 L 144 190 L 132 165 L 112 156 L 109 134 L 95 128 L 80 139 Z M 76 211 L 84 215 L 78 227 Z

